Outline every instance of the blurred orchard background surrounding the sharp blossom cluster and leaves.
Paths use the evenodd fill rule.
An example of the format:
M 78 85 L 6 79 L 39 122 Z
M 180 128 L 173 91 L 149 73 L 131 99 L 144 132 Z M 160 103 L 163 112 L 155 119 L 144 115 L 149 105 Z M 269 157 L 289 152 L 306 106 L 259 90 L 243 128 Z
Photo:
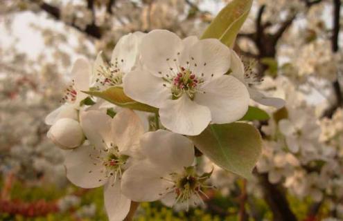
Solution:
M 72 62 L 109 57 L 128 32 L 200 37 L 228 2 L 1 0 L 0 220 L 107 220 L 102 190 L 69 183 L 46 139 L 44 117 L 60 105 Z M 341 9 L 340 0 L 254 1 L 234 50 L 263 77 L 258 87 L 287 102 L 261 106 L 272 118 L 254 122 L 264 138 L 256 179 L 215 167 L 218 189 L 200 208 L 143 203 L 137 220 L 343 220 Z

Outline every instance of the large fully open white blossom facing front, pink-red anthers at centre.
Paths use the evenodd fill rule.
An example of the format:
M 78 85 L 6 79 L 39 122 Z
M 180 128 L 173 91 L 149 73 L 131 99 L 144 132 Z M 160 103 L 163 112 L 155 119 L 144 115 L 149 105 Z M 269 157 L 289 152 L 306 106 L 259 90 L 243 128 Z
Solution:
M 143 37 L 141 65 L 123 78 L 127 96 L 159 108 L 175 133 L 200 134 L 210 122 L 234 122 L 247 112 L 247 88 L 230 68 L 231 50 L 218 39 L 179 39 L 168 30 Z

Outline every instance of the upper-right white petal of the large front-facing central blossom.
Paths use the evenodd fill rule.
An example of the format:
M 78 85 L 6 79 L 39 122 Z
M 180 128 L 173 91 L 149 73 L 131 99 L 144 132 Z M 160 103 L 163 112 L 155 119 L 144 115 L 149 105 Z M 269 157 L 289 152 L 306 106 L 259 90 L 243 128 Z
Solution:
M 231 51 L 218 39 L 203 39 L 190 48 L 188 61 L 189 68 L 195 75 L 204 74 L 205 79 L 211 79 L 227 73 L 231 63 Z

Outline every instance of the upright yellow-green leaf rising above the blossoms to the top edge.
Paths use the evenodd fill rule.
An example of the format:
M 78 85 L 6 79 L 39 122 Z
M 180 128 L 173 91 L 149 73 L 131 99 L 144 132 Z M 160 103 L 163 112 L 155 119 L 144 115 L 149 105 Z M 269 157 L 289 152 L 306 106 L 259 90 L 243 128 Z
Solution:
M 252 8 L 252 0 L 233 0 L 223 8 L 202 34 L 202 39 L 219 39 L 232 48 Z

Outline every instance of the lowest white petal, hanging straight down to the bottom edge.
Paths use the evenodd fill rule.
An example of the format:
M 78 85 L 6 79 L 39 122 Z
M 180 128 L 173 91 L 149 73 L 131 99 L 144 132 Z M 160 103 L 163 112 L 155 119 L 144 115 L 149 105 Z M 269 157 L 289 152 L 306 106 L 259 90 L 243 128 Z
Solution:
M 121 193 L 121 182 L 109 180 L 104 188 L 105 209 L 109 221 L 124 220 L 130 211 L 131 200 Z

